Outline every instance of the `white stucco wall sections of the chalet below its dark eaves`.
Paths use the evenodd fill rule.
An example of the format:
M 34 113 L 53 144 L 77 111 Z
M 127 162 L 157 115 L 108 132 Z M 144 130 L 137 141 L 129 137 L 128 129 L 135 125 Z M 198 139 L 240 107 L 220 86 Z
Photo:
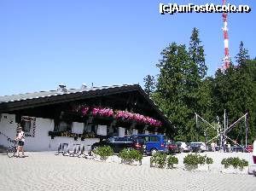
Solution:
M 12 139 L 16 136 L 17 124 L 15 123 L 15 115 L 13 114 L 1 114 L 0 118 L 0 131 L 6 136 L 11 137 Z M 83 123 L 73 123 L 73 132 L 82 133 L 84 129 Z M 103 125 L 100 129 L 102 134 L 107 135 L 107 126 Z M 106 130 L 105 130 L 106 129 Z M 79 138 L 78 141 L 74 141 L 73 137 L 60 137 L 55 136 L 54 139 L 51 139 L 49 131 L 54 130 L 54 120 L 53 119 L 42 119 L 36 118 L 36 129 L 35 136 L 26 136 L 25 137 L 25 150 L 26 151 L 56 151 L 60 143 L 68 143 L 70 146 L 76 144 L 83 144 L 85 146 L 92 145 L 94 142 L 99 142 L 98 138 L 87 138 L 84 141 L 81 141 Z M 81 132 L 82 130 L 82 132 Z M 12 143 L 7 141 L 5 136 L 0 135 L 0 145 L 9 147 Z

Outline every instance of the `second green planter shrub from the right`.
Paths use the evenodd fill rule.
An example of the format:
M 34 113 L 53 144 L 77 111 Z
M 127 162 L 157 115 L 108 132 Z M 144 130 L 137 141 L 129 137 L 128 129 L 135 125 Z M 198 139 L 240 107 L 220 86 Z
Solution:
M 213 160 L 207 155 L 201 156 L 197 153 L 193 154 L 190 153 L 187 156 L 184 157 L 183 159 L 183 164 L 185 165 L 186 170 L 196 170 L 198 169 L 199 165 L 204 166 L 208 165 L 208 170 L 209 170 L 209 165 L 213 163 Z

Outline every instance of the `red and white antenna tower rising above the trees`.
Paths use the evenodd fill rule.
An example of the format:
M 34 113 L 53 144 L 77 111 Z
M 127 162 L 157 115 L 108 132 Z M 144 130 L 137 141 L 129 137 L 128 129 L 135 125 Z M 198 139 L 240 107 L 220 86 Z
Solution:
M 223 5 L 226 5 L 226 0 L 223 0 Z M 226 70 L 230 67 L 230 53 L 229 53 L 229 35 L 228 35 L 228 14 L 223 13 L 222 14 L 223 21 L 224 21 L 224 27 L 222 28 L 224 32 L 224 64 L 223 69 Z

